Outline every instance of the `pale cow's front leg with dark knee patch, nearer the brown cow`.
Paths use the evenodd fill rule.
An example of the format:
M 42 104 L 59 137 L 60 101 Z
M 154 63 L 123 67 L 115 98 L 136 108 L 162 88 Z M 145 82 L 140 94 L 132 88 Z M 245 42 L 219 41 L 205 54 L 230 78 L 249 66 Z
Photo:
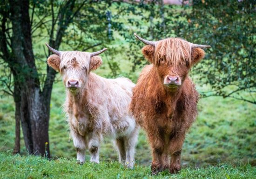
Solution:
M 99 148 L 101 142 L 101 135 L 93 134 L 89 140 L 88 149 L 91 155 L 90 162 L 99 163 Z

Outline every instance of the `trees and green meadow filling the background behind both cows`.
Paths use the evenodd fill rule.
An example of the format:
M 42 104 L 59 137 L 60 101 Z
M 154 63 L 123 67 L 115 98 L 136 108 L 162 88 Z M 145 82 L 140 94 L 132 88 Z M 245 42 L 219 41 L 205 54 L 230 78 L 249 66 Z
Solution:
M 74 158 L 61 105 L 65 89 L 47 66 L 44 43 L 62 51 L 97 51 L 95 72 L 136 82 L 147 64 L 138 33 L 148 40 L 181 37 L 210 45 L 191 70 L 201 94 L 199 117 L 183 147 L 184 166 L 230 162 L 256 165 L 256 3 L 193 0 L 180 6 L 162 0 L 2 0 L 0 3 L 0 152 Z M 47 142 L 47 144 L 46 144 Z M 10 156 L 9 156 L 10 157 Z M 109 139 L 101 159 L 117 159 Z M 137 163 L 149 165 L 141 131 Z M 255 172 L 255 167 L 251 170 Z

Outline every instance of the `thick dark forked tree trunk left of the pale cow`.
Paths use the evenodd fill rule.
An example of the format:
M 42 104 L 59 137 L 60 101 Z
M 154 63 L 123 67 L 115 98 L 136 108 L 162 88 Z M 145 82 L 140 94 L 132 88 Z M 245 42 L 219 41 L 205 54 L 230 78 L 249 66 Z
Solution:
M 47 92 L 40 92 L 31 38 L 29 1 L 9 2 L 10 20 L 15 27 L 11 39 L 13 61 L 10 62 L 15 89 L 15 119 L 21 121 L 27 152 L 50 157 L 48 125 L 52 84 L 48 85 L 50 89 Z

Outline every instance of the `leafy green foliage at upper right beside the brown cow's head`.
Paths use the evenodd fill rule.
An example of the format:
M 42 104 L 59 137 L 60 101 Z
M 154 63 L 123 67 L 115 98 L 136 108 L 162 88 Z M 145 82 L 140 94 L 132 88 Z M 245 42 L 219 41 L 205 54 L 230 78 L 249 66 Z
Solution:
M 186 16 L 189 25 L 182 37 L 212 47 L 194 69 L 201 83 L 212 87 L 203 94 L 256 104 L 255 1 L 193 0 Z

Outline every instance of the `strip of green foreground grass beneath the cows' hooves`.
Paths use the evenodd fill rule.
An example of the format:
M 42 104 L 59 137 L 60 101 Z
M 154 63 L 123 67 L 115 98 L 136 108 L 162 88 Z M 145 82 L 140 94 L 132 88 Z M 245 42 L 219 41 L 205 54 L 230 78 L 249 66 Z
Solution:
M 185 167 L 175 175 L 165 171 L 153 176 L 148 166 L 136 165 L 131 170 L 109 161 L 79 165 L 74 159 L 49 161 L 32 155 L 13 156 L 6 152 L 0 153 L 0 160 L 2 179 L 254 179 L 256 176 L 256 168 L 249 164 Z

